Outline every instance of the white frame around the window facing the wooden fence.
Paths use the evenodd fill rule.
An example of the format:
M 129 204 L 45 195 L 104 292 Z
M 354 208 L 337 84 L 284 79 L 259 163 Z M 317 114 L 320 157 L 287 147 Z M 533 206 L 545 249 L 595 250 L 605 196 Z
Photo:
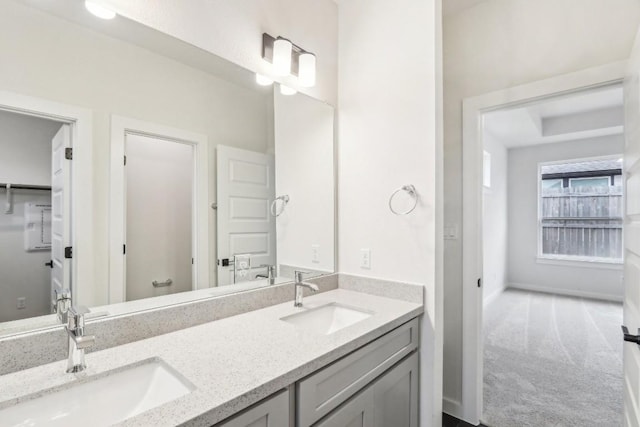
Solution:
M 620 258 L 608 258 L 608 257 L 590 257 L 590 256 L 581 256 L 581 255 L 556 255 L 556 254 L 544 254 L 542 252 L 542 168 L 544 166 L 549 165 L 558 165 L 558 164 L 567 164 L 567 163 L 580 163 L 580 162 L 589 162 L 589 161 L 598 161 L 598 160 L 619 160 L 622 158 L 622 154 L 617 155 L 606 155 L 606 156 L 594 156 L 594 157 L 582 157 L 575 159 L 564 159 L 564 160 L 555 160 L 555 161 L 543 161 L 538 162 L 538 175 L 537 175 L 537 209 L 538 209 L 538 218 L 537 218 L 537 262 L 540 264 L 557 264 L 557 265 L 573 265 L 573 266 L 582 266 L 582 267 L 598 267 L 598 266 L 620 266 L 624 263 L 624 250 L 622 251 L 622 256 Z M 625 212 L 625 195 L 626 195 L 626 180 L 624 179 L 625 170 L 624 170 L 624 162 L 621 165 L 622 169 L 622 207 L 621 210 L 623 212 L 623 227 L 624 227 L 624 212 Z M 606 175 L 602 176 L 594 176 L 593 178 L 609 178 Z M 591 178 L 591 177 L 589 177 Z M 580 178 L 569 178 L 571 179 L 580 179 Z M 569 181 L 570 183 L 570 181 Z M 570 184 L 569 184 L 570 185 Z M 611 185 L 611 183 L 609 184 Z M 624 228 L 622 233 L 622 248 L 624 248 Z M 614 267 L 615 268 L 615 267 Z

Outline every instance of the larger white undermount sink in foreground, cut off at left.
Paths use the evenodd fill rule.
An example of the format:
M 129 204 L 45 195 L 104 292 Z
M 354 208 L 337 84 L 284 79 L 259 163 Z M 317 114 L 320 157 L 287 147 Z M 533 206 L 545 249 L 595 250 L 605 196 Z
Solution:
M 159 359 L 0 410 L 2 426 L 110 426 L 195 390 Z

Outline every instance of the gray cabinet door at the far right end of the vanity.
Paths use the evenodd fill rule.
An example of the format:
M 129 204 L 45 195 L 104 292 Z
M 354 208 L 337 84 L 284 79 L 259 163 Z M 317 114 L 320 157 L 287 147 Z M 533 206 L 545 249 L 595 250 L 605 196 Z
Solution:
M 418 353 L 372 386 L 375 427 L 418 427 Z

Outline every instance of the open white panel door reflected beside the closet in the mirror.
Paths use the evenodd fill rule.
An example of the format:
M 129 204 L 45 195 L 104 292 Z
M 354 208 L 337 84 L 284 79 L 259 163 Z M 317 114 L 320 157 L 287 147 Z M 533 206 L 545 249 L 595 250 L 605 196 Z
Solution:
M 52 140 L 51 155 L 51 301 L 55 291 L 71 289 L 71 259 L 65 258 L 65 247 L 71 246 L 71 161 L 66 149 L 71 147 L 71 129 L 62 125 Z M 73 291 L 73 290 L 72 290 Z M 73 295 L 73 294 L 72 294 Z

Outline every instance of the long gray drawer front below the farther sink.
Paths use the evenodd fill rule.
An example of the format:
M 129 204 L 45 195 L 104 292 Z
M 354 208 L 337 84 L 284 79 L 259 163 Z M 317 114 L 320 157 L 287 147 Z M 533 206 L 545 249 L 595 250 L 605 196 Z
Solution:
M 313 424 L 418 347 L 418 319 L 394 329 L 296 384 L 297 424 Z

